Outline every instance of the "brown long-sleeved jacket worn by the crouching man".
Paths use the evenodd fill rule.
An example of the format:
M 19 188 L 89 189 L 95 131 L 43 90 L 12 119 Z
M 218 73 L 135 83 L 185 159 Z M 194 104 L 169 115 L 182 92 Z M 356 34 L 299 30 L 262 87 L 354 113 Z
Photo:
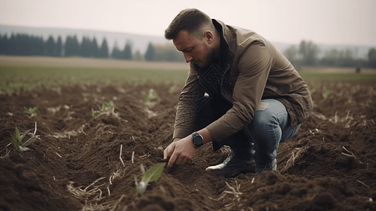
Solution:
M 228 49 L 222 57 L 225 59 L 205 71 L 190 64 L 179 96 L 174 138 L 193 132 L 195 114 L 205 103 L 205 92 L 211 96 L 221 94 L 233 103 L 233 108 L 207 126 L 216 141 L 247 126 L 264 98 L 275 98 L 286 106 L 292 127 L 306 121 L 313 110 L 311 94 L 290 61 L 252 30 L 225 25 L 220 20 L 213 23 L 222 32 L 221 49 L 223 45 Z

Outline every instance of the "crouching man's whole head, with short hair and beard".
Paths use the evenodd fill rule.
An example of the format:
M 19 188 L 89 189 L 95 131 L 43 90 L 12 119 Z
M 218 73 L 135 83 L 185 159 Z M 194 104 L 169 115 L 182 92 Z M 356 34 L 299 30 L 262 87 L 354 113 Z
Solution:
M 183 52 L 187 63 L 205 67 L 214 56 L 219 55 L 220 38 L 212 19 L 195 8 L 176 15 L 164 31 L 164 37 L 172 39 L 176 49 Z

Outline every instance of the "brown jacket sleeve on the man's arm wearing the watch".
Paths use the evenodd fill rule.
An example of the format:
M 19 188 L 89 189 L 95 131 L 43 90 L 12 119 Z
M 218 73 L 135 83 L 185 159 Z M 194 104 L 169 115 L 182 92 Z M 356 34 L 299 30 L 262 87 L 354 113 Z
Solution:
M 250 45 L 238 60 L 238 79 L 233 89 L 233 108 L 207 126 L 216 141 L 231 136 L 250 124 L 264 93 L 273 66 L 272 53 L 258 41 Z

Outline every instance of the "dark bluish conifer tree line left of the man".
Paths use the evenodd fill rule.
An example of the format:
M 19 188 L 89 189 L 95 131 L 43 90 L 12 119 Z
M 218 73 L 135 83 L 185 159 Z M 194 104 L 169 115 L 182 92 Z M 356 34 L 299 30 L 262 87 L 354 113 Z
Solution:
M 117 44 L 109 49 L 105 38 L 98 44 L 96 37 L 82 37 L 79 42 L 77 36 L 67 36 L 65 42 L 61 36 L 54 39 L 49 36 L 46 41 L 42 37 L 30 36 L 28 34 L 0 34 L 0 55 L 19 56 L 81 56 L 92 58 L 116 58 L 124 60 L 160 60 L 160 61 L 182 61 L 183 56 L 176 49 L 166 49 L 155 46 L 152 42 L 148 44 L 145 54 L 140 51 L 132 53 L 131 41 L 127 41 L 124 48 Z

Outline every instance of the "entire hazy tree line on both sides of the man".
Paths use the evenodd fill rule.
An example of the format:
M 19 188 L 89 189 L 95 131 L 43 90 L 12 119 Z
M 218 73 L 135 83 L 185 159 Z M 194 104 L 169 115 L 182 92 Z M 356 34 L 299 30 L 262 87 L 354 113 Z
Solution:
M 109 49 L 105 38 L 98 43 L 96 37 L 82 37 L 79 42 L 77 36 L 67 36 L 65 41 L 61 36 L 54 39 L 49 36 L 46 41 L 42 37 L 28 34 L 0 34 L 0 54 L 20 56 L 82 56 L 93 58 L 116 58 L 124 60 L 148 60 L 183 62 L 182 53 L 174 45 L 148 44 L 145 54 L 140 51 L 132 53 L 131 41 L 127 41 L 124 48 L 117 44 Z M 370 48 L 368 58 L 356 58 L 352 49 L 331 49 L 319 57 L 320 49 L 312 41 L 302 40 L 299 46 L 290 46 L 283 54 L 297 68 L 302 66 L 327 66 L 327 67 L 368 67 L 376 68 L 376 49 Z

